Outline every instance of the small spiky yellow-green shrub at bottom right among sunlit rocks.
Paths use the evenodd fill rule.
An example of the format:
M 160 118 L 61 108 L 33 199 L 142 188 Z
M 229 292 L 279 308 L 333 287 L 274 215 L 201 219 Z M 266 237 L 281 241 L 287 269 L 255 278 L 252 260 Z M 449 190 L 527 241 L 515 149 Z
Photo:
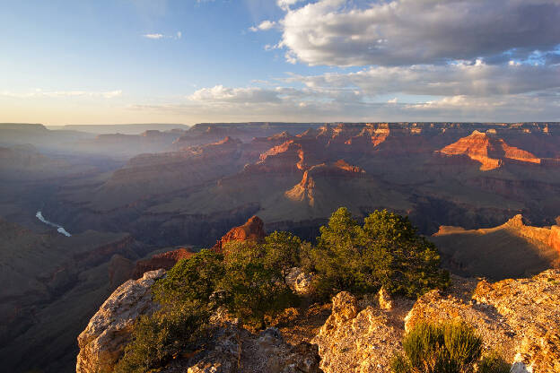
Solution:
M 394 373 L 465 373 L 474 371 L 482 339 L 464 323 L 420 323 L 405 336 L 403 350 L 391 362 Z

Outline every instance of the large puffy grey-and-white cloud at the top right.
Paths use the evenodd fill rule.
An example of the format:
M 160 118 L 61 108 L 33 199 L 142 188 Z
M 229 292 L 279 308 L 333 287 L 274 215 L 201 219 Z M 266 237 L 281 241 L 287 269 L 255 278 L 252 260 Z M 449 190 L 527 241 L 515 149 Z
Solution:
M 506 62 L 560 44 L 557 0 L 319 0 L 291 9 L 295 3 L 277 2 L 286 12 L 280 45 L 288 61 L 309 65 Z

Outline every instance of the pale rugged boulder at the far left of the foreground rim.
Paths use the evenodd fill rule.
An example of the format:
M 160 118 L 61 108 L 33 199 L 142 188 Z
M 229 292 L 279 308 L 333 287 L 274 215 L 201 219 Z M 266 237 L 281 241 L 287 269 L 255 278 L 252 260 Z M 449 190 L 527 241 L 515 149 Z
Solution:
M 118 287 L 92 317 L 78 336 L 80 352 L 76 373 L 110 371 L 129 341 L 136 320 L 157 309 L 152 301 L 153 282 L 165 271 L 144 273 L 138 280 L 129 280 Z

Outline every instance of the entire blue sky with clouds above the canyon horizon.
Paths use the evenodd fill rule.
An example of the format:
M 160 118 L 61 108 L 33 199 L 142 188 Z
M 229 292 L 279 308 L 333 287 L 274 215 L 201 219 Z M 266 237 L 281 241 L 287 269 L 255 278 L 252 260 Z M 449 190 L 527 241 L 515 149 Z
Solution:
M 560 0 L 0 6 L 0 122 L 560 121 Z

